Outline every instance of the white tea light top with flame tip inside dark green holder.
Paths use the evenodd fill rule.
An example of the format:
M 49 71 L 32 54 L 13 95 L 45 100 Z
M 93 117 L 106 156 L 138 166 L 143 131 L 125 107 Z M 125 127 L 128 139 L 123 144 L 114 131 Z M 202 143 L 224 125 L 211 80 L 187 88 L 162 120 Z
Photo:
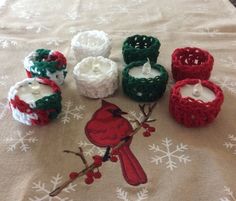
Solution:
M 150 61 L 146 62 L 143 66 L 137 66 L 129 70 L 129 75 L 135 78 L 154 78 L 161 75 L 160 71 L 151 67 Z

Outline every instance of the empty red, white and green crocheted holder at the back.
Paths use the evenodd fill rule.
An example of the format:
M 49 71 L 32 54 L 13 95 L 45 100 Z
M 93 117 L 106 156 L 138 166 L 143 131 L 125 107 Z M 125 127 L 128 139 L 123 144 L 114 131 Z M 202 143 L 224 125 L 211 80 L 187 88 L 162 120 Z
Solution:
M 37 49 L 24 59 L 27 76 L 43 77 L 62 85 L 66 74 L 66 58 L 58 51 Z

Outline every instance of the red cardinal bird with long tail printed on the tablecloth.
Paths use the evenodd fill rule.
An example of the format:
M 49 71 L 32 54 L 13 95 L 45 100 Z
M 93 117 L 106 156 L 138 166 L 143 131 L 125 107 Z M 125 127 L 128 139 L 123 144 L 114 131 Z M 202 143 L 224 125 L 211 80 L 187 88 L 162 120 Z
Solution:
M 115 147 L 121 140 L 133 132 L 129 121 L 122 117 L 123 112 L 118 106 L 102 100 L 102 107 L 98 109 L 85 127 L 88 139 L 99 147 Z M 147 182 L 147 176 L 140 163 L 131 152 L 129 146 L 132 137 L 117 149 L 122 173 L 125 180 L 137 186 Z

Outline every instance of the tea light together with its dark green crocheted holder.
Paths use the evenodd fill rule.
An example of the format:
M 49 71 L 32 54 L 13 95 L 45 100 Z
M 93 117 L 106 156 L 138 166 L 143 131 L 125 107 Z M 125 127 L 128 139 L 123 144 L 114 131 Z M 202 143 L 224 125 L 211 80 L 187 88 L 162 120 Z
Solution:
M 166 90 L 168 73 L 159 64 L 144 61 L 132 62 L 122 72 L 124 93 L 136 101 L 159 99 Z

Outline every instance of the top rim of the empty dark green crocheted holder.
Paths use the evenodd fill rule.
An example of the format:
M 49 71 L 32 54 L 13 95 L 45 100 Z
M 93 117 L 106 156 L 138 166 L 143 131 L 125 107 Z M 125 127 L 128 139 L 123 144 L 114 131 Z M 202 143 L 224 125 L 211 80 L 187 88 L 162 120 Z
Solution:
M 147 48 L 135 48 L 135 47 L 133 47 L 131 45 L 131 41 L 133 41 L 137 37 L 138 38 L 144 38 L 144 37 L 145 38 L 149 38 L 149 39 L 152 40 L 151 41 L 152 43 Z M 155 38 L 153 36 L 146 36 L 146 35 L 138 35 L 138 34 L 136 34 L 136 35 L 133 35 L 133 36 L 130 36 L 130 37 L 126 38 L 126 40 L 123 43 L 122 49 L 123 50 L 132 50 L 132 51 L 134 51 L 134 50 L 136 50 L 136 51 L 144 51 L 144 50 L 151 50 L 152 48 L 155 48 L 156 46 L 157 46 L 157 49 L 159 49 L 160 46 L 161 46 L 160 41 L 157 38 Z

